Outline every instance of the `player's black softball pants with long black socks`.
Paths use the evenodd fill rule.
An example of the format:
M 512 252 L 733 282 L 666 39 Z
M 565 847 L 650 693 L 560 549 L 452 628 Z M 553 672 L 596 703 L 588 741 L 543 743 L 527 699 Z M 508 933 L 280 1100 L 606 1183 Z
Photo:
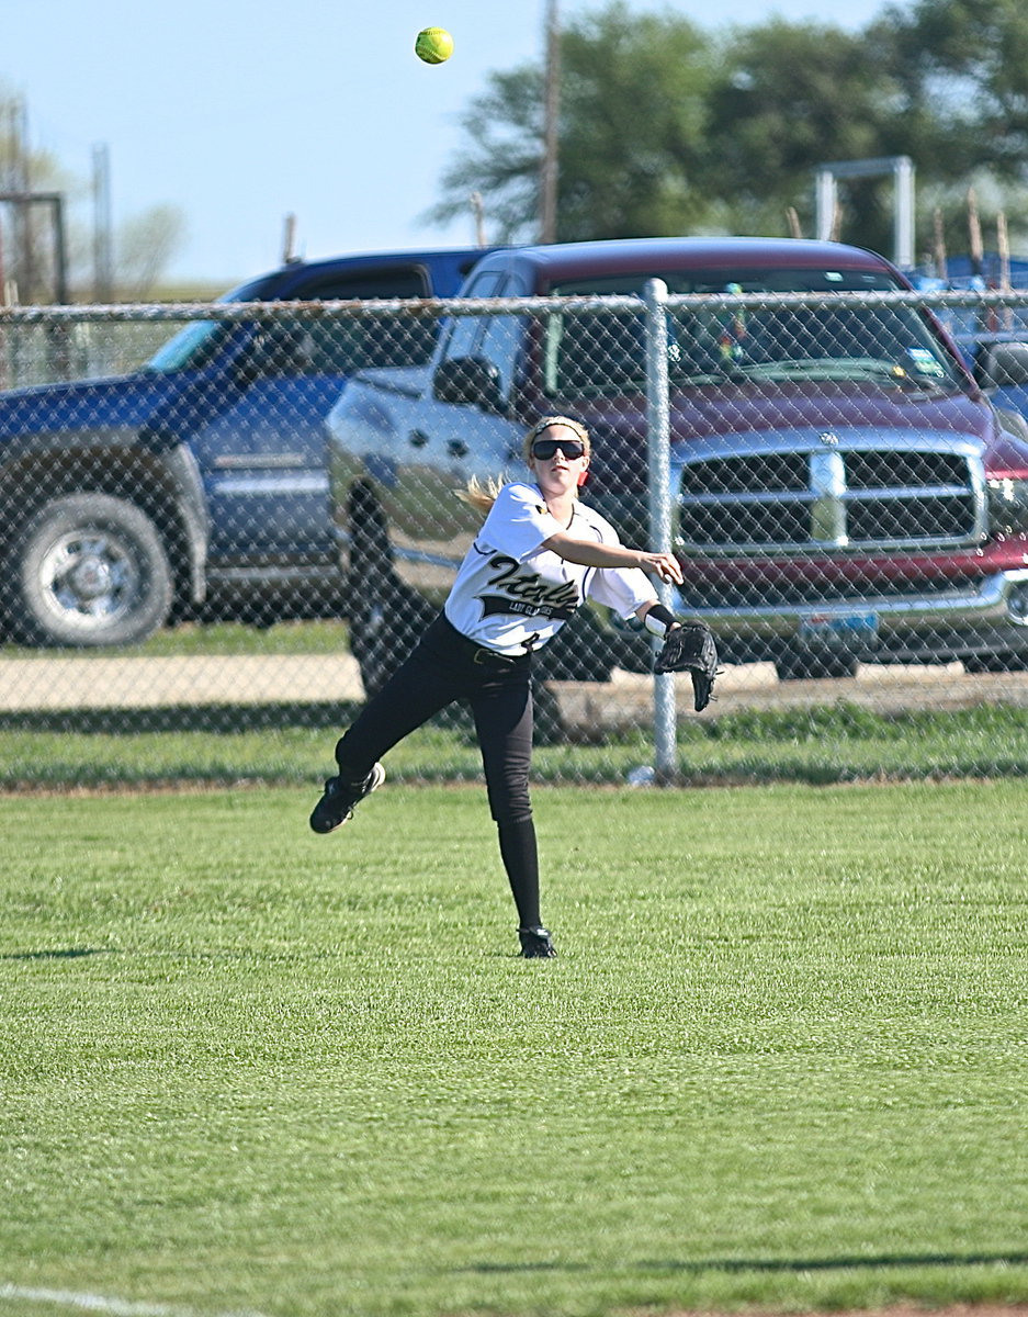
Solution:
M 413 653 L 361 710 L 336 745 L 340 777 L 359 782 L 376 760 L 457 701 L 475 720 L 490 811 L 523 928 L 540 925 L 532 765 L 532 657 L 504 660 L 440 615 Z

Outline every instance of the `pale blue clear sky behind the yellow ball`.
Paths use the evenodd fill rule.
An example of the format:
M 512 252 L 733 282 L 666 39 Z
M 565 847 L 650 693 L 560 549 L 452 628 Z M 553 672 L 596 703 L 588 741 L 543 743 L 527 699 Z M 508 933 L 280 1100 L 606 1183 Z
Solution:
M 604 0 L 559 0 L 562 21 Z M 778 14 L 848 30 L 885 0 L 629 0 L 711 30 Z M 230 287 L 294 249 L 463 246 L 466 217 L 430 227 L 438 178 L 462 142 L 459 116 L 488 74 L 541 62 L 546 0 L 0 0 L 0 86 L 28 107 L 33 149 L 88 183 L 107 151 L 113 225 L 174 204 L 186 236 L 168 279 Z M 421 63 L 424 26 L 454 40 Z M 486 216 L 486 238 L 488 216 Z

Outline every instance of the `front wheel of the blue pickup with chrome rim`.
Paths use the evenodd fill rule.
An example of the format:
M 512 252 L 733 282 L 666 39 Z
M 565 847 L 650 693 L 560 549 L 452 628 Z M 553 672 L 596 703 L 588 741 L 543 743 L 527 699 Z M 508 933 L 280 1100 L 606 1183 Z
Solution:
M 174 583 L 150 518 L 109 494 L 67 494 L 21 528 L 7 558 L 7 614 L 33 645 L 128 645 L 163 626 Z

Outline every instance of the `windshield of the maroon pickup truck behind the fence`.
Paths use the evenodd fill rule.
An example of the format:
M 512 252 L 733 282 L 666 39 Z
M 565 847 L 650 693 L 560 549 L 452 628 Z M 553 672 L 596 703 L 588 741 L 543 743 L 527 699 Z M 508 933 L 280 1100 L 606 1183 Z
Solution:
M 640 292 L 652 275 L 565 283 L 557 295 Z M 964 378 L 931 323 L 913 307 L 835 304 L 838 292 L 896 292 L 863 270 L 688 270 L 658 273 L 671 294 L 803 292 L 811 307 L 674 308 L 669 370 L 679 387 L 736 381 L 871 381 L 882 387 L 954 391 Z M 821 302 L 820 298 L 824 296 Z M 616 396 L 645 385 L 644 317 L 555 312 L 546 335 L 546 389 Z

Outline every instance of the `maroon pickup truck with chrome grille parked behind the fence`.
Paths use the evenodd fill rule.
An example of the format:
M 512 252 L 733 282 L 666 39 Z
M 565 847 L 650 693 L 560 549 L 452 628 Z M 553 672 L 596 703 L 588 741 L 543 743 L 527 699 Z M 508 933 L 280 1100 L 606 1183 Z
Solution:
M 1028 425 L 986 399 L 931 313 L 887 296 L 911 291 L 894 266 L 838 244 L 630 240 L 483 258 L 433 361 L 362 373 L 329 416 L 351 572 L 388 570 L 437 602 L 475 529 L 450 491 L 516 473 L 525 427 L 548 412 L 590 427 L 587 498 L 645 539 L 641 303 L 491 315 L 463 299 L 640 296 L 654 277 L 673 298 L 678 605 L 724 656 L 773 660 L 783 677 L 885 658 L 1021 665 Z M 376 618 L 357 620 L 374 677 Z M 624 641 L 613 660 L 634 665 Z

